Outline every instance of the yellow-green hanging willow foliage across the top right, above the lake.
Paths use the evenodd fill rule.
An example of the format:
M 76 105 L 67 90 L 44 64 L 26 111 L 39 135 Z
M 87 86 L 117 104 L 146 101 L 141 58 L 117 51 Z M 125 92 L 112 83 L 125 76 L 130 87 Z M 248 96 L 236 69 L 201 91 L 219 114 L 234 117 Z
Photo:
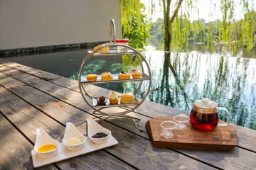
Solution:
M 205 21 L 190 21 L 191 8 L 195 8 L 195 1 L 185 0 L 184 5 L 178 12 L 174 22 L 171 23 L 169 29 L 171 33 L 171 45 L 176 47 L 188 46 L 188 40 L 196 40 L 196 42 L 207 43 L 210 52 L 213 45 L 234 45 L 236 54 L 238 47 L 247 47 L 247 52 L 250 52 L 255 44 L 256 30 L 256 12 L 250 7 L 248 1 L 241 1 L 245 16 L 239 21 L 234 20 L 235 0 L 219 0 L 220 11 L 223 13 L 222 20 L 205 23 Z M 167 6 L 167 1 L 160 1 L 162 7 Z M 211 0 L 214 6 L 216 2 Z M 129 38 L 130 45 L 136 48 L 143 48 L 148 45 L 147 39 L 151 35 L 152 41 L 160 41 L 164 44 L 165 29 L 167 22 L 159 19 L 156 23 L 152 23 L 149 30 L 149 20 L 143 14 L 145 9 L 144 4 L 140 0 L 120 0 L 122 6 L 122 33 L 124 38 Z M 173 2 L 171 2 L 173 4 Z M 174 7 L 177 6 L 178 0 L 174 1 Z M 151 9 L 154 10 L 154 1 L 151 1 Z M 157 4 L 159 5 L 159 4 Z M 182 11 L 183 8 L 183 11 Z M 175 8 L 171 6 L 170 18 L 174 13 Z M 167 13 L 168 8 L 164 9 Z M 198 10 L 199 13 L 199 10 Z M 161 26 L 162 25 L 162 26 Z M 149 35 L 150 33 L 150 35 Z

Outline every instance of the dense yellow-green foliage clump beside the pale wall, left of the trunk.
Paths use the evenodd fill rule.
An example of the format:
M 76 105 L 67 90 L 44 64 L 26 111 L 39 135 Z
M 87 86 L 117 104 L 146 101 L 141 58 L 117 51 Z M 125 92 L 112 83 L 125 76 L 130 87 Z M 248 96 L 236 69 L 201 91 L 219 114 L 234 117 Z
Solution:
M 120 0 L 122 8 L 122 38 L 129 38 L 129 45 L 144 48 L 149 45 L 149 21 L 140 0 Z

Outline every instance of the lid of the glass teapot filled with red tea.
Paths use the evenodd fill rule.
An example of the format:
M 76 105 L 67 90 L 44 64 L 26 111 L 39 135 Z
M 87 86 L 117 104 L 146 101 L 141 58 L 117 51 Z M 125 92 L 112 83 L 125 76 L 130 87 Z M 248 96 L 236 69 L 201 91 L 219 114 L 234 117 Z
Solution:
M 217 103 L 215 101 L 210 101 L 209 98 L 202 98 L 200 100 L 196 100 L 193 103 L 193 106 L 194 110 L 199 113 L 215 113 Z

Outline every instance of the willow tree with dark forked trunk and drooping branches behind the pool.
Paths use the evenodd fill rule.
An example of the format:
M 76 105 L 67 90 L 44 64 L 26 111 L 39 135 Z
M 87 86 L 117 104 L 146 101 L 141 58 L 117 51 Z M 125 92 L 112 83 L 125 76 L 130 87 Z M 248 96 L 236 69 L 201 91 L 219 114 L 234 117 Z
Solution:
M 206 37 L 207 47 L 210 51 L 213 50 L 213 42 L 218 39 L 224 45 L 231 47 L 231 43 L 235 45 L 235 51 L 237 47 L 247 47 L 247 52 L 252 50 L 252 47 L 256 45 L 255 36 L 255 13 L 253 11 L 252 4 L 253 0 L 242 0 L 240 1 L 239 8 L 242 7 L 244 18 L 240 21 L 235 21 L 235 0 L 209 0 L 212 4 L 212 8 L 220 10 L 222 18 L 220 21 L 210 22 L 208 26 L 204 25 L 198 18 L 197 22 L 191 23 L 191 13 L 199 9 L 196 7 L 198 0 L 149 0 L 150 8 L 155 11 L 155 6 L 161 6 L 164 14 L 163 22 L 163 35 L 164 35 L 164 50 L 170 51 L 170 45 L 176 47 L 182 47 L 183 45 L 188 46 L 188 38 L 197 37 L 199 34 L 200 42 L 203 42 L 203 38 Z M 132 26 L 133 17 L 137 21 L 137 33 L 140 33 L 142 24 L 145 22 L 142 20 L 144 6 L 140 0 L 120 0 L 122 6 L 122 28 L 126 33 L 129 33 Z M 204 2 L 204 1 L 203 1 Z M 216 8 L 217 4 L 220 6 Z M 213 15 L 215 13 L 213 11 Z M 151 14 L 151 15 L 154 15 Z M 242 13 L 240 13 L 242 15 Z M 131 17 L 132 16 L 132 17 Z M 210 17 L 210 16 L 209 16 Z M 132 18 L 132 19 L 131 19 Z M 145 17 L 144 17 L 145 18 Z M 132 22 L 130 22 L 132 21 Z M 124 35 L 124 34 L 123 34 Z M 147 35 L 147 34 L 146 34 Z M 138 37 L 139 38 L 139 37 Z M 142 38 L 139 38 L 143 40 Z M 204 38 L 205 39 L 205 38 Z M 145 40 L 145 39 L 144 39 Z M 234 43 L 235 42 L 235 43 Z

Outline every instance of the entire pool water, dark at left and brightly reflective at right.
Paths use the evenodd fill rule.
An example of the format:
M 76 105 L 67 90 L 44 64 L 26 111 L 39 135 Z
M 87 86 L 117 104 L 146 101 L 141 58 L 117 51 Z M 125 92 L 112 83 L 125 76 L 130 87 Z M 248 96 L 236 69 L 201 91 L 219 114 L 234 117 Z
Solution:
M 191 111 L 193 101 L 210 98 L 218 106 L 228 109 L 231 123 L 256 130 L 256 59 L 151 50 L 142 51 L 142 54 L 149 62 L 152 74 L 151 90 L 146 100 Z M 75 50 L 6 60 L 78 79 L 86 55 L 87 50 Z M 82 73 L 119 73 L 134 68 L 141 69 L 139 61 L 131 55 L 91 57 Z M 149 81 L 143 82 L 137 97 L 144 97 L 148 84 Z M 99 86 L 121 93 L 135 92 L 139 81 Z M 224 112 L 220 119 L 227 120 Z

